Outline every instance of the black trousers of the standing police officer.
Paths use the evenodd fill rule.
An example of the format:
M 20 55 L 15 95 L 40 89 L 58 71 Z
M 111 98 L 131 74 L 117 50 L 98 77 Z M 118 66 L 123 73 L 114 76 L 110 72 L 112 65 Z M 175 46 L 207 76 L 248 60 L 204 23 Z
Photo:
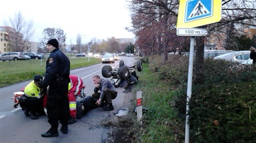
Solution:
M 63 127 L 67 127 L 69 119 L 68 81 L 58 85 L 50 85 L 47 95 L 48 122 L 53 130 L 59 126 L 59 120 Z

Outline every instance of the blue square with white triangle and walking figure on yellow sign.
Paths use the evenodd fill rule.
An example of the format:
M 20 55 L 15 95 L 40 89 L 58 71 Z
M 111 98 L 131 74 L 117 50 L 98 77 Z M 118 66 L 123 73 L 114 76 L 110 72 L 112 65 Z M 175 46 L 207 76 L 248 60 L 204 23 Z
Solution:
M 213 0 L 188 0 L 185 8 L 185 23 L 213 16 Z

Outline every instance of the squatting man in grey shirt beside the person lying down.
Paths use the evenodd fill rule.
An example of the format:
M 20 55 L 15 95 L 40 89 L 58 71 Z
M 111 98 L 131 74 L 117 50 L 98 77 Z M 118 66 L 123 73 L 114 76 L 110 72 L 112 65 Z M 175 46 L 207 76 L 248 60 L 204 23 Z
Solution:
M 117 97 L 115 86 L 108 79 L 100 78 L 98 75 L 93 76 L 93 83 L 95 88 L 92 97 L 98 99 L 95 104 L 103 107 L 104 111 L 113 110 L 112 100 Z

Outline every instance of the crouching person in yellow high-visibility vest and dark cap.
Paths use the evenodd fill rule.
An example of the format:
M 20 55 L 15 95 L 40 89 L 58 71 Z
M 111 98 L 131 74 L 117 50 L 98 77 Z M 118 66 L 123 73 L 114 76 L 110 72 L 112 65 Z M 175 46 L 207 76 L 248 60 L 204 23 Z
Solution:
M 35 75 L 34 80 L 24 88 L 24 96 L 26 97 L 24 114 L 34 120 L 38 118 L 37 113 L 44 114 L 42 85 L 43 77 Z

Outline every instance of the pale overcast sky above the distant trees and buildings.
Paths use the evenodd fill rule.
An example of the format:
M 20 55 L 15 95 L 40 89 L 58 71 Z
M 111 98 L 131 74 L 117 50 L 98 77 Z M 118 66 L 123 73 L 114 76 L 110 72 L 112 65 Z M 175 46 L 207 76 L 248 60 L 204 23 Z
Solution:
M 33 42 L 43 38 L 43 29 L 61 28 L 67 35 L 67 44 L 76 44 L 77 35 L 82 43 L 92 38 L 134 38 L 130 10 L 126 0 L 3 0 L 0 2 L 0 26 L 9 22 L 19 11 L 26 21 L 33 20 Z

